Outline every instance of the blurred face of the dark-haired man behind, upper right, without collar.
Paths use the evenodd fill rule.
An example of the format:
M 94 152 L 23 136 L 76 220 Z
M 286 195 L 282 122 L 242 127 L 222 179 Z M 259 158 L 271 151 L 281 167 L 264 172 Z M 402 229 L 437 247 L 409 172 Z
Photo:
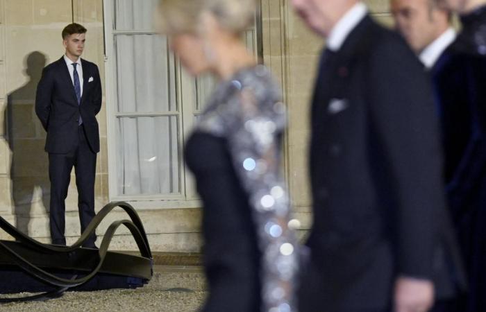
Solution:
M 449 27 L 451 14 L 434 0 L 391 0 L 396 29 L 420 53 Z

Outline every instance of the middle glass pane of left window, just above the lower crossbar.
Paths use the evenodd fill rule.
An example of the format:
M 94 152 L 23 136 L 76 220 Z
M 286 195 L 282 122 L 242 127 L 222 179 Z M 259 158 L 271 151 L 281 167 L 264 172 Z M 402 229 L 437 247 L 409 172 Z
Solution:
M 118 112 L 175 112 L 176 65 L 159 35 L 117 35 Z

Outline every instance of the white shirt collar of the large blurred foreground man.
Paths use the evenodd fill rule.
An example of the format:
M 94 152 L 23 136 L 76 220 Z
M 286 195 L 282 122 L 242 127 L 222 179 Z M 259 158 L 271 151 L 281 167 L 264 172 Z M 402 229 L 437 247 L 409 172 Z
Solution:
M 368 9 L 362 2 L 356 3 L 353 8 L 349 9 L 330 31 L 326 44 L 327 49 L 339 51 L 349 33 L 367 15 L 367 12 Z

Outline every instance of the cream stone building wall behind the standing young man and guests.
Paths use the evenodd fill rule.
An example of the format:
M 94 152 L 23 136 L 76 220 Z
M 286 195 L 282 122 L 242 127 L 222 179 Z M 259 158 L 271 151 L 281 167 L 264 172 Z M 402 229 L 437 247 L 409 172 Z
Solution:
M 367 3 L 378 19 L 389 22 L 386 0 Z M 48 63 L 60 58 L 63 53 L 60 31 L 73 19 L 88 29 L 83 57 L 98 64 L 103 94 L 105 91 L 102 0 L 74 0 L 73 4 L 67 0 L 0 0 L 0 103 L 6 116 L 10 116 L 7 128 L 11 130 L 8 134 L 2 131 L 0 137 L 0 215 L 46 242 L 49 241 L 49 177 L 44 153 L 45 132 L 34 112 L 35 85 L 43 67 L 42 55 Z M 292 12 L 290 0 L 262 0 L 262 19 L 265 64 L 280 81 L 290 114 L 285 144 L 287 181 L 296 216 L 302 221 L 303 229 L 308 229 L 311 224 L 307 178 L 308 110 L 317 57 L 324 40 L 303 26 Z M 26 59 L 36 51 L 33 66 L 28 71 L 33 76 L 30 78 Z M 103 100 L 98 116 L 101 152 L 95 186 L 97 210 L 108 202 L 105 105 Z M 5 123 L 2 114 L 0 129 Z M 68 243 L 79 234 L 74 175 L 72 182 L 67 200 Z M 152 209 L 139 213 L 153 250 L 199 251 L 200 209 Z M 110 215 L 101 225 L 99 234 L 110 221 L 120 218 L 126 216 L 121 212 Z M 0 232 L 2 237 L 4 234 Z M 135 243 L 128 232 L 122 230 L 112 248 L 134 249 Z

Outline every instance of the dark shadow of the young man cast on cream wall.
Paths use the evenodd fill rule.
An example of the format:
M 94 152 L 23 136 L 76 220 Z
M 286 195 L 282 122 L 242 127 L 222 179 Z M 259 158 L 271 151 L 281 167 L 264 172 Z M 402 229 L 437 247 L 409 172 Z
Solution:
M 49 159 L 44 152 L 46 133 L 35 115 L 37 83 L 46 66 L 46 55 L 39 51 L 24 60 L 24 75 L 28 82 L 8 94 L 4 112 L 5 137 L 10 147 L 10 179 L 15 224 L 25 234 L 31 215 L 49 212 Z M 44 232 L 45 229 L 42 230 Z

